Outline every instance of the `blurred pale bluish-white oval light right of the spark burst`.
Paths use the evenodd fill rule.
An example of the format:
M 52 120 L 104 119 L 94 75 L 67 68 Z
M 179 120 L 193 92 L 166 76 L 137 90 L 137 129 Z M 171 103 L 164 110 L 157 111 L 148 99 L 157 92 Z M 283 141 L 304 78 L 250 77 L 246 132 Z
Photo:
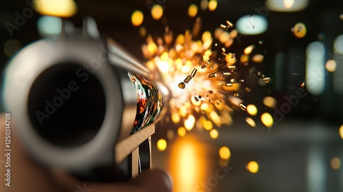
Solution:
M 256 35 L 268 29 L 268 21 L 264 16 L 254 14 L 241 16 L 236 23 L 239 33 L 246 35 Z

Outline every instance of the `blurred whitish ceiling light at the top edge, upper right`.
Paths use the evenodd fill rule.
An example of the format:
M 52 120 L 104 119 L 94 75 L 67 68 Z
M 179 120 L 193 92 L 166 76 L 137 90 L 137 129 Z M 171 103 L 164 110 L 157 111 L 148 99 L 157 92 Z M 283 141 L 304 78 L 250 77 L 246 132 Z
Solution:
M 309 5 L 309 0 L 267 0 L 265 5 L 274 12 L 297 12 Z

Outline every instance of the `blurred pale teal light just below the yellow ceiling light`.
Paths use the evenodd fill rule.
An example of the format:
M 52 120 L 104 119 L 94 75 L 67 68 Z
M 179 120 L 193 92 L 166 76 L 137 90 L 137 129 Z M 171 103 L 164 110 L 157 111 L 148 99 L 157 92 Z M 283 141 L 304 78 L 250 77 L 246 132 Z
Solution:
M 61 33 L 62 20 L 56 16 L 40 16 L 37 21 L 38 32 L 43 38 Z

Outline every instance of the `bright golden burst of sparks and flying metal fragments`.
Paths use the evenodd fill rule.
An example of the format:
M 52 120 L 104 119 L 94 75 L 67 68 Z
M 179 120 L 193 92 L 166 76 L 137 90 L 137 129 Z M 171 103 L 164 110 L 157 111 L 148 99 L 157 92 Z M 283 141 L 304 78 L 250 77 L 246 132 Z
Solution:
M 189 9 L 193 12 L 195 7 L 192 5 Z M 152 80 L 162 81 L 171 91 L 168 113 L 171 121 L 179 126 L 179 136 L 185 136 L 186 131 L 194 126 L 200 125 L 210 131 L 214 126 L 231 125 L 233 112 L 239 108 L 247 115 L 257 113 L 257 108 L 252 108 L 255 105 L 247 105 L 247 109 L 241 99 L 242 94 L 252 92 L 246 86 L 247 82 L 241 79 L 245 76 L 241 74 L 244 73 L 241 69 L 248 66 L 250 53 L 257 45 L 250 45 L 239 52 L 230 49 L 237 30 L 228 20 L 224 25 L 218 25 L 213 33 L 205 31 L 197 38 L 200 26 L 201 19 L 198 18 L 193 31 L 187 29 L 175 39 L 169 27 L 165 27 L 163 36 L 147 36 L 146 43 L 142 45 Z M 251 60 L 256 64 L 262 62 L 263 57 L 257 53 Z M 270 82 L 269 77 L 259 76 L 264 82 Z M 262 121 L 268 121 L 267 126 L 271 126 L 272 119 L 263 118 Z M 248 119 L 247 123 L 255 127 L 252 119 Z M 217 132 L 212 131 L 212 134 Z

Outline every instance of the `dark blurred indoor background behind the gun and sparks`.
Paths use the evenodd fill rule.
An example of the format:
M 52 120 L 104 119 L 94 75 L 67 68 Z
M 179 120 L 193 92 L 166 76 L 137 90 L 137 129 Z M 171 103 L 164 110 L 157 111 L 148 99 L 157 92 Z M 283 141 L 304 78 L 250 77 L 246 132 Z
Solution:
M 156 42 L 168 26 L 175 40 L 192 30 L 198 17 L 201 27 L 193 39 L 204 43 L 207 31 L 213 44 L 225 44 L 228 39 L 215 38 L 215 30 L 233 23 L 227 30 L 233 42 L 226 49 L 241 62 L 243 52 L 263 56 L 255 61 L 254 74 L 261 71 L 270 82 L 241 94 L 256 112 L 247 115 L 238 107 L 228 123 L 205 125 L 197 118 L 200 123 L 187 128 L 186 115 L 177 109 L 178 115 L 171 111 L 156 126 L 152 163 L 169 171 L 174 191 L 343 191 L 343 1 L 56 2 L 65 3 L 64 12 L 37 12 L 29 0 L 1 3 L 0 71 L 25 45 L 60 32 L 60 19 L 40 13 L 60 14 L 76 28 L 92 16 L 101 34 L 142 63 L 151 59 L 142 52 L 149 36 Z M 250 45 L 255 52 L 246 53 Z M 248 77 L 250 66 L 240 73 Z M 268 122 L 264 112 L 272 117 Z

